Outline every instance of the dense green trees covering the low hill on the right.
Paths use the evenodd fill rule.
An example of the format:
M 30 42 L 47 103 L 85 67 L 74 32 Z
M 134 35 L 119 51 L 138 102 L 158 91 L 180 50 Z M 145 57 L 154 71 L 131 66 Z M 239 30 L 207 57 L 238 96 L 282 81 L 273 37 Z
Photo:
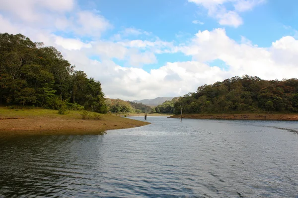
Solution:
M 161 109 L 179 114 L 180 105 L 184 113 L 298 112 L 298 80 L 235 76 L 203 85 L 176 101 L 166 101 Z

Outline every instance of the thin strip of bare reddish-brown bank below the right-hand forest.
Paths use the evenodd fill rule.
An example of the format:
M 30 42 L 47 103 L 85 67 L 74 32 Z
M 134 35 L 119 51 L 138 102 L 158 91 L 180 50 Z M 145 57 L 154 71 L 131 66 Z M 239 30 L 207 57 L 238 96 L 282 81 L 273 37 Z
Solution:
M 180 118 L 180 115 L 170 116 Z M 182 118 L 192 119 L 219 119 L 219 120 L 284 120 L 298 121 L 298 114 L 266 114 L 266 113 L 243 113 L 243 114 L 183 114 Z

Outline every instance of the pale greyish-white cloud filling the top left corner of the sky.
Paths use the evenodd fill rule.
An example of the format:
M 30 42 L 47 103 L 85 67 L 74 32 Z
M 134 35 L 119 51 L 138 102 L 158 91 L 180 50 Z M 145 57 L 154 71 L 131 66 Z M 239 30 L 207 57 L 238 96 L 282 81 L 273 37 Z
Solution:
M 80 10 L 74 0 L 0 0 L 0 11 L 20 26 L 100 37 L 112 28 L 98 11 Z

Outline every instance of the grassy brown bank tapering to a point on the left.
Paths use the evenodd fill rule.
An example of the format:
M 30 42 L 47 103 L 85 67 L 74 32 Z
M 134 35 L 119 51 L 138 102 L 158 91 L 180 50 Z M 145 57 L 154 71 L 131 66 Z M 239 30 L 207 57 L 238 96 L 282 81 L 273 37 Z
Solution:
M 7 109 L 0 107 L 1 133 L 88 134 L 110 129 L 125 129 L 149 124 L 139 120 L 99 114 L 99 120 L 83 120 L 80 111 L 65 115 L 51 109 Z

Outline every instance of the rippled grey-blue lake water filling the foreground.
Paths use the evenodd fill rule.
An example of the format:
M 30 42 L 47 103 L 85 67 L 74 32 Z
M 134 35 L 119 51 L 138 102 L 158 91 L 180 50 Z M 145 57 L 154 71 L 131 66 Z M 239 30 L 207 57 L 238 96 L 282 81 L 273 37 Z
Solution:
M 0 198 L 298 196 L 298 122 L 147 121 L 104 135 L 0 137 Z

